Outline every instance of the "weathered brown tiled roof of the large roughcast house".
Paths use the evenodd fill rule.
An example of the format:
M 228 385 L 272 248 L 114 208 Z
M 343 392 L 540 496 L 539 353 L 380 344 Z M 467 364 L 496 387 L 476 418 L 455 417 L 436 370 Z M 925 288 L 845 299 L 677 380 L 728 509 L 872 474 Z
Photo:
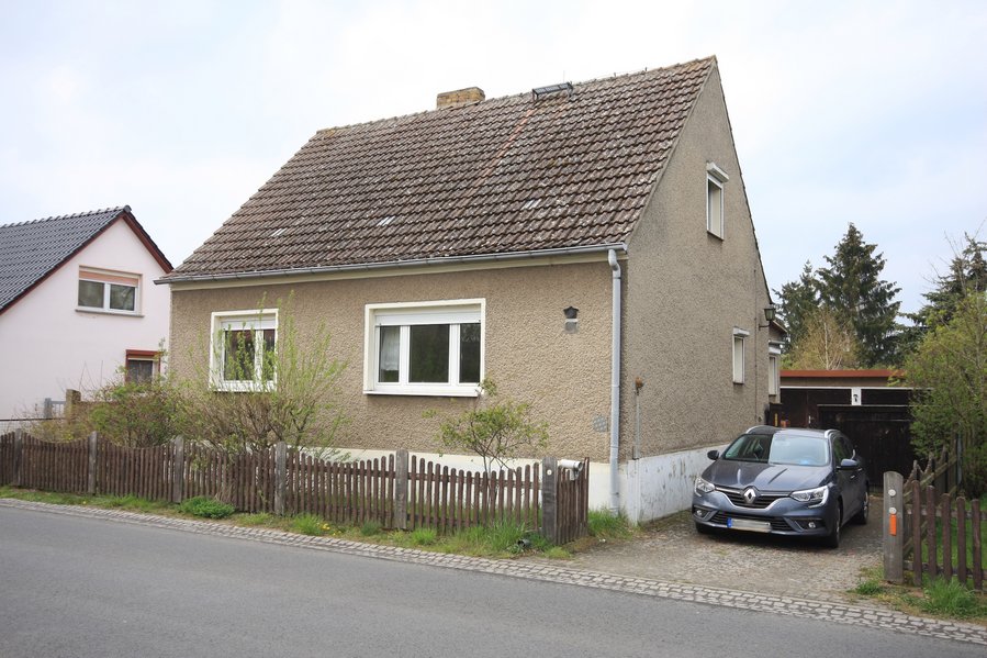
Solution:
M 319 131 L 166 278 L 618 245 L 715 66 Z

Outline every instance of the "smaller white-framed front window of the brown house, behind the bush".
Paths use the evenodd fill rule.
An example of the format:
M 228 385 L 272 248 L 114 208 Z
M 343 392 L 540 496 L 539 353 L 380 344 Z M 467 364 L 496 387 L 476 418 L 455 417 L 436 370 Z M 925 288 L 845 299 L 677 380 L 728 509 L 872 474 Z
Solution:
M 273 386 L 277 311 L 212 314 L 210 376 L 221 391 L 260 391 Z

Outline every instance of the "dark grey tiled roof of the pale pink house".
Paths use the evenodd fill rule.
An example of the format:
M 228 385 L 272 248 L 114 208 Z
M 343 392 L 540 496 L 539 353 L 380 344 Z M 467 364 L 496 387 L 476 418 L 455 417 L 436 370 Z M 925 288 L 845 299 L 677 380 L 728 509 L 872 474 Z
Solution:
M 131 207 L 0 225 L 0 312 Z

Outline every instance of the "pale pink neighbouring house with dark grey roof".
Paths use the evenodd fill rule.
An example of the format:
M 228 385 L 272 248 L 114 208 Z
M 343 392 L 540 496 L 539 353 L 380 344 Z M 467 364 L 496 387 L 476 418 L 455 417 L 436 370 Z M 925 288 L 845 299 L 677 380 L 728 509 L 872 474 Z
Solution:
M 170 271 L 130 207 L 0 225 L 0 430 L 153 372 L 170 300 L 152 281 Z

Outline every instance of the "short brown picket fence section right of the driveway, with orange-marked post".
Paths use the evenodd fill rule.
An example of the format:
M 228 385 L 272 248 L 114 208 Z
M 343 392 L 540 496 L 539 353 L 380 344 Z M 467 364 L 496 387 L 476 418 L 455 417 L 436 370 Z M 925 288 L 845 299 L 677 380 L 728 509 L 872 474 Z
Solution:
M 956 578 L 984 591 L 983 528 L 987 511 L 980 501 L 957 497 L 956 457 L 949 450 L 918 462 L 906 480 L 884 473 L 884 570 L 890 582 Z M 955 533 L 955 536 L 954 536 Z M 953 550 L 956 556 L 954 561 Z

